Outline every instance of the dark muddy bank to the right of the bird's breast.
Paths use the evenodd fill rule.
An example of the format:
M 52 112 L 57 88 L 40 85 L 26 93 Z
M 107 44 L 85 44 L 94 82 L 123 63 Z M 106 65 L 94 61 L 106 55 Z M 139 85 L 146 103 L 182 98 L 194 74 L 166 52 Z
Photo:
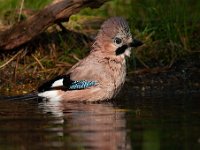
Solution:
M 129 72 L 124 90 L 135 95 L 200 92 L 199 68 L 199 56 L 192 56 L 171 68 L 138 69 Z

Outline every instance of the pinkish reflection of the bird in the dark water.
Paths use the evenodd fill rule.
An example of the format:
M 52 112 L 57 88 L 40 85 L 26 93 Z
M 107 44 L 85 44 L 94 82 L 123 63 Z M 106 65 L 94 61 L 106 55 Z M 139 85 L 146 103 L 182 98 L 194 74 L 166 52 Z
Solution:
M 52 113 L 62 129 L 57 135 L 63 147 L 84 149 L 131 149 L 125 110 L 111 103 L 42 103 L 44 112 Z M 70 140 L 69 140 L 70 139 Z

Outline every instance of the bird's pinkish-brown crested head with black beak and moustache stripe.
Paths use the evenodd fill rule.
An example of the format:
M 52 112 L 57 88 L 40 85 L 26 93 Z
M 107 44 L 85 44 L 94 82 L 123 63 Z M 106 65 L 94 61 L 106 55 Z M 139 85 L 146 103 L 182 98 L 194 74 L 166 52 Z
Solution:
M 111 57 L 124 57 L 130 56 L 132 47 L 140 45 L 142 42 L 132 38 L 127 21 L 122 17 L 112 17 L 102 24 L 93 50 Z

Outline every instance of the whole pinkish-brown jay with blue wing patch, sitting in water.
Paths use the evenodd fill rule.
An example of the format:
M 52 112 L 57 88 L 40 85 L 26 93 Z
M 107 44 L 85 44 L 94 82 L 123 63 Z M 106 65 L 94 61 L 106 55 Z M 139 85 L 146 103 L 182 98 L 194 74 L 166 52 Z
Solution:
M 65 74 L 44 82 L 36 91 L 10 99 L 103 101 L 114 98 L 126 78 L 126 57 L 143 43 L 132 37 L 123 17 L 111 17 L 100 27 L 89 54 Z M 8 98 L 9 99 L 9 98 Z

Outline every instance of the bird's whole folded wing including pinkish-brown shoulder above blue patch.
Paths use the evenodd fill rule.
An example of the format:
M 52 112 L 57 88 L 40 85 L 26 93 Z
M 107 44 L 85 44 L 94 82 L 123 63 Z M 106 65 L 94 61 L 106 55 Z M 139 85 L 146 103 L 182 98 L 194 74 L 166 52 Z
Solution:
M 91 61 L 92 59 L 92 61 Z M 100 84 L 105 76 L 105 67 L 95 57 L 89 55 L 75 64 L 66 75 L 58 76 L 38 88 L 38 92 L 60 89 L 82 90 Z

